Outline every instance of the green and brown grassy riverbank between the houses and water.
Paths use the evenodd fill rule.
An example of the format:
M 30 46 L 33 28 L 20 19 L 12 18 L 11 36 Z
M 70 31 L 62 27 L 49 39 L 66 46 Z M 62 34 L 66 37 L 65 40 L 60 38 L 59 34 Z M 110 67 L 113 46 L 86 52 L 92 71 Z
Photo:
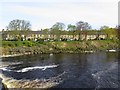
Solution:
M 2 41 L 2 55 L 39 54 L 39 53 L 80 53 L 84 51 L 104 51 L 118 49 L 119 41 Z

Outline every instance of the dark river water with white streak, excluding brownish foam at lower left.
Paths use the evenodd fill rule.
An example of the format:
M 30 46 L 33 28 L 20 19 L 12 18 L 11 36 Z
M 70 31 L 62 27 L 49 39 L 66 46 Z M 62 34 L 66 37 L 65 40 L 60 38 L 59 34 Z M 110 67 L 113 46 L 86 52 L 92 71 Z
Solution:
M 118 88 L 117 52 L 26 55 L 2 58 L 0 63 L 2 74 L 16 80 L 61 75 L 53 88 Z

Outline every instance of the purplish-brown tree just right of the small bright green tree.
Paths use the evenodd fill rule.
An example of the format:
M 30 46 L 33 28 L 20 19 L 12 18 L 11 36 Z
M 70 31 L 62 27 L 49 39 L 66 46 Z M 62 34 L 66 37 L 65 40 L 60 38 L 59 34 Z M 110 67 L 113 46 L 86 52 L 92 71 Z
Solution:
M 76 27 L 77 27 L 77 30 L 79 30 L 79 40 L 81 40 L 80 36 L 81 36 L 81 32 L 84 31 L 84 34 L 85 34 L 85 40 L 87 38 L 87 30 L 90 30 L 91 29 L 91 25 L 88 24 L 87 22 L 83 22 L 83 21 L 79 21 L 76 23 Z

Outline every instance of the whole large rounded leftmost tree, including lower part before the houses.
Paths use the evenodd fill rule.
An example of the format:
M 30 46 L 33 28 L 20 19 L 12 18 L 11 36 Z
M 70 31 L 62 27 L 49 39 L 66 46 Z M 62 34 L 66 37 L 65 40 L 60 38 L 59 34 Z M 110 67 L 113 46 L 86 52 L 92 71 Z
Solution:
M 31 24 L 29 21 L 25 20 L 12 20 L 10 21 L 9 25 L 7 26 L 7 31 L 9 31 L 9 34 L 12 35 L 12 37 L 15 40 L 21 40 L 21 35 L 24 34 L 26 39 L 26 36 L 29 34 L 29 31 L 31 30 Z

